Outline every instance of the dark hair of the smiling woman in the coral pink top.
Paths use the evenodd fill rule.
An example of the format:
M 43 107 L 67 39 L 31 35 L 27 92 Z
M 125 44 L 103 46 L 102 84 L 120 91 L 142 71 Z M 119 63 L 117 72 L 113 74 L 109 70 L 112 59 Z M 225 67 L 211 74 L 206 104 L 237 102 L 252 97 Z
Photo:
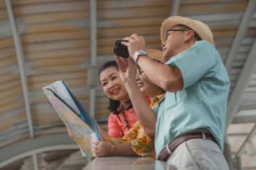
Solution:
M 101 68 L 99 68 L 98 78 L 100 78 L 100 75 L 103 72 L 103 70 L 106 70 L 106 68 L 110 68 L 110 67 L 115 67 L 117 70 L 119 70 L 116 60 L 107 61 L 106 63 L 103 63 L 103 65 L 101 65 Z M 108 98 L 108 100 L 109 100 L 108 110 L 110 112 L 113 112 L 113 114 L 116 114 L 116 115 L 119 114 L 118 108 L 121 102 L 118 100 L 113 100 L 111 98 Z

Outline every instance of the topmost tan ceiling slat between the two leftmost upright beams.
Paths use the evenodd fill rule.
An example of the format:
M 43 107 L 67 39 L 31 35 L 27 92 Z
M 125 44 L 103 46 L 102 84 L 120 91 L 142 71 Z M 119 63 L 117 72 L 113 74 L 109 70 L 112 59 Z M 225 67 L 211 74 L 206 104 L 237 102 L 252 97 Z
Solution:
M 48 12 L 85 11 L 89 8 L 88 1 L 66 1 L 53 3 L 22 4 L 13 6 L 15 16 L 40 14 Z

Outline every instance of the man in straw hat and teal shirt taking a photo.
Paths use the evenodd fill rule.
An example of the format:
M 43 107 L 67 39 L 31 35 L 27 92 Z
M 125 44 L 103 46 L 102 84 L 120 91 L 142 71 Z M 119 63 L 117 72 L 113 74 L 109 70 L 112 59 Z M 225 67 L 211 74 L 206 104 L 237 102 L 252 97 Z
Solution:
M 230 81 L 212 31 L 201 21 L 172 16 L 163 21 L 160 38 L 165 65 L 148 58 L 143 37 L 123 42 L 145 75 L 166 90 L 155 115 L 138 115 L 146 132 L 155 132 L 158 159 L 183 170 L 228 169 L 222 150 Z

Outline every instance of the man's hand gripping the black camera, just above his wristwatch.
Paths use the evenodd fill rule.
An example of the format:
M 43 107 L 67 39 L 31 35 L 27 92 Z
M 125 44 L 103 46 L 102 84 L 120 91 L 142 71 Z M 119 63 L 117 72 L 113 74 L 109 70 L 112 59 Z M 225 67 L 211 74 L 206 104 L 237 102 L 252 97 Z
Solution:
M 123 40 L 128 41 L 128 42 L 122 41 L 122 44 L 126 45 L 128 47 L 130 57 L 132 57 L 132 58 L 136 51 L 144 50 L 144 48 L 145 48 L 144 38 L 142 36 L 138 36 L 138 34 L 136 34 L 136 33 L 134 33 L 131 36 L 128 36 L 126 38 L 123 38 Z

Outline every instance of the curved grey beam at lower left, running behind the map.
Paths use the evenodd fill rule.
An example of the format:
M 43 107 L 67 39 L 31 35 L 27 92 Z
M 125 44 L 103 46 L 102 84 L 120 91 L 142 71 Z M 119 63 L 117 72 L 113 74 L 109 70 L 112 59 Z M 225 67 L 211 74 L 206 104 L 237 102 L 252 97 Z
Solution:
M 78 149 L 73 139 L 67 133 L 52 134 L 43 137 L 27 139 L 10 147 L 0 149 L 0 168 L 14 161 L 32 156 L 41 152 L 63 149 Z

